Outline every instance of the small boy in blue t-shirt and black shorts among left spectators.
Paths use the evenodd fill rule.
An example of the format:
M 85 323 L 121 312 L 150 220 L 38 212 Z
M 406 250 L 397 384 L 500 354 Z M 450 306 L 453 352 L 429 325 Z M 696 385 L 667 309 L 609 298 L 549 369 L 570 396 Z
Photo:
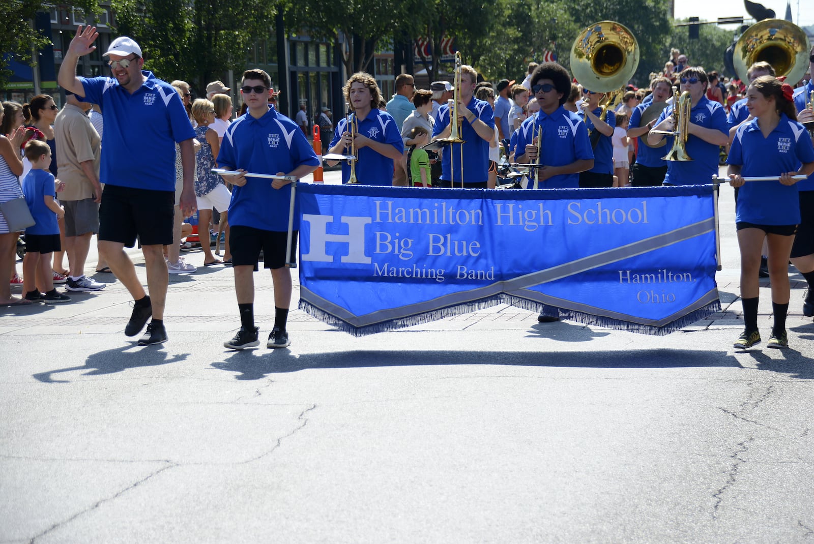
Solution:
M 31 163 L 31 171 L 23 178 L 23 194 L 25 202 L 28 203 L 28 210 L 37 221 L 33 227 L 25 229 L 26 252 L 23 259 L 25 299 L 51 304 L 70 302 L 71 298 L 67 294 L 57 293 L 51 272 L 50 254 L 62 249 L 59 244 L 57 220 L 65 215 L 65 210 L 54 199 L 55 179 L 54 175 L 48 172 L 50 147 L 44 141 L 28 141 L 25 144 L 25 157 Z M 34 282 L 37 269 L 42 276 L 45 294 L 39 292 Z

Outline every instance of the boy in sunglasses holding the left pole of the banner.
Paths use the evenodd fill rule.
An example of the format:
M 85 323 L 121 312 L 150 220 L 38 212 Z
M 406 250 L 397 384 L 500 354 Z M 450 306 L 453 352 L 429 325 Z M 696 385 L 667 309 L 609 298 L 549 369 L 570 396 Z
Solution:
M 266 347 L 291 344 L 286 331 L 291 306 L 291 269 L 288 259 L 296 259 L 300 228 L 299 203 L 294 211 L 291 255 L 286 255 L 291 181 L 247 177 L 247 172 L 278 176 L 307 176 L 319 166 L 319 159 L 297 124 L 268 103 L 274 91 L 269 74 L 259 69 L 243 72 L 240 93 L 247 111 L 230 124 L 223 137 L 217 164 L 241 172 L 226 176 L 234 185 L 229 206 L 230 249 L 234 267 L 234 291 L 238 298 L 240 330 L 224 342 L 232 350 L 255 347 L 258 329 L 254 324 L 254 277 L 263 251 L 265 268 L 274 285 L 274 328 Z

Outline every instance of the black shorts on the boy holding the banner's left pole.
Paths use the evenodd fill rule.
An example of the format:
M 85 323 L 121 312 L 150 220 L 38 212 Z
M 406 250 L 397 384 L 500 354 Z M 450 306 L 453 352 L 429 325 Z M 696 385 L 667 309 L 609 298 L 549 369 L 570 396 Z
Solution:
M 291 263 L 297 262 L 297 231 L 291 237 Z M 286 266 L 288 233 L 234 224 L 229 233 L 232 266 L 251 265 L 257 270 L 260 250 L 263 250 L 263 268 Z

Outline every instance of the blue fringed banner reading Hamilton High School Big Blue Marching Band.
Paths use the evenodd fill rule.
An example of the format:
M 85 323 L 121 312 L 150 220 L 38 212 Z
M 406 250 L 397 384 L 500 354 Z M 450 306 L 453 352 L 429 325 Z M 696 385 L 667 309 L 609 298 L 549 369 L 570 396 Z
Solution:
M 300 309 L 355 335 L 501 302 L 650 334 L 720 310 L 712 185 L 297 192 Z

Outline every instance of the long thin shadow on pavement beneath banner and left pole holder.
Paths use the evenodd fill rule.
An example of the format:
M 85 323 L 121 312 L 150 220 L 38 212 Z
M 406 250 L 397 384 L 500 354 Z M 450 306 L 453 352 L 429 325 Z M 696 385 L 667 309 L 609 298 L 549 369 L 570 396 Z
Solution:
M 245 350 L 229 355 L 212 367 L 236 372 L 238 380 L 260 380 L 268 374 L 310 368 L 371 368 L 442 364 L 500 364 L 519 367 L 572 368 L 742 368 L 725 351 L 637 350 L 629 351 L 387 351 L 353 350 L 336 353 L 293 355 L 289 350 Z

